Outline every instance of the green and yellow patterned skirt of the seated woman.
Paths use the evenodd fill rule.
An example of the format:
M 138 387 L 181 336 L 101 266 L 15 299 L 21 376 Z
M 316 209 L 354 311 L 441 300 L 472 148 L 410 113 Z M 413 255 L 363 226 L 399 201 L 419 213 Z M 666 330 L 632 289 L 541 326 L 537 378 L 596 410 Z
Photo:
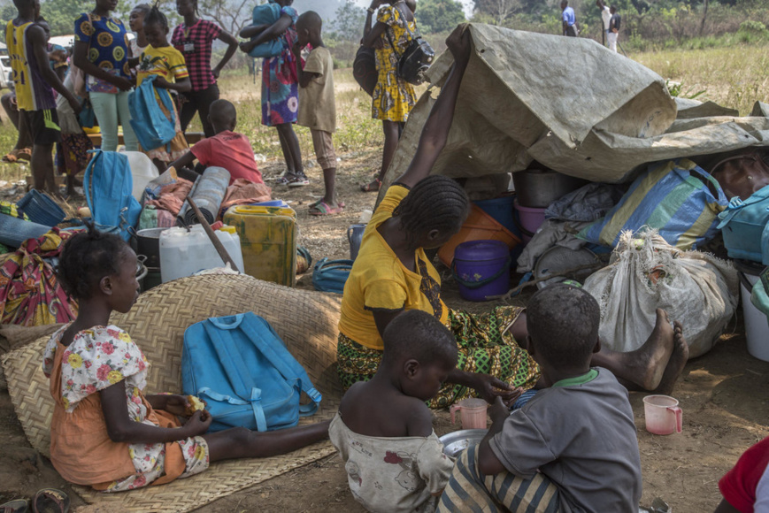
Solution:
M 496 307 L 484 314 L 450 310 L 450 330 L 459 347 L 457 368 L 491 374 L 514 387 L 534 387 L 540 377 L 539 366 L 510 332 L 504 331 L 523 310 L 512 306 Z M 381 351 L 366 348 L 339 333 L 336 361 L 342 387 L 347 390 L 353 383 L 373 378 L 381 362 Z M 445 408 L 473 395 L 476 394 L 472 389 L 447 383 L 428 405 Z

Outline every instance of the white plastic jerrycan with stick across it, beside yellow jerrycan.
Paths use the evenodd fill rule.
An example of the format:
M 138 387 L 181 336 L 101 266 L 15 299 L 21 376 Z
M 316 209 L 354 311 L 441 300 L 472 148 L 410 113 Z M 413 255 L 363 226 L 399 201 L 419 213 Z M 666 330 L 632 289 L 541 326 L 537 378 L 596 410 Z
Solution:
M 229 227 L 229 226 L 227 226 Z M 238 234 L 217 230 L 214 232 L 227 249 L 238 271 L 243 272 L 243 255 Z M 198 271 L 224 267 L 213 243 L 205 234 L 203 226 L 190 228 L 168 228 L 160 234 L 160 279 L 163 283 L 172 279 L 192 276 Z

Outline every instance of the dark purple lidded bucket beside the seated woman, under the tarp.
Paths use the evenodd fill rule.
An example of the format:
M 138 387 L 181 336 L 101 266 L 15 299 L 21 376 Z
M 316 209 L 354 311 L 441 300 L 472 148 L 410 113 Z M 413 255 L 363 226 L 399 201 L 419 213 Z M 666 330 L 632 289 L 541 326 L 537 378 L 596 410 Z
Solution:
M 510 285 L 510 249 L 503 241 L 467 241 L 454 249 L 451 271 L 459 295 L 467 301 L 486 301 L 503 295 Z

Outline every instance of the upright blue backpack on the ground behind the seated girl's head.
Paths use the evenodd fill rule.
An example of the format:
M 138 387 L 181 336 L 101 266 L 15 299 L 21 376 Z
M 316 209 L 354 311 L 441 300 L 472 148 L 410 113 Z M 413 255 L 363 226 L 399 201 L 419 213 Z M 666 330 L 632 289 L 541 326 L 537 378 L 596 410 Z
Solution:
M 139 222 L 142 205 L 132 195 L 134 177 L 128 157 L 96 149 L 83 175 L 83 192 L 96 228 L 124 239 Z

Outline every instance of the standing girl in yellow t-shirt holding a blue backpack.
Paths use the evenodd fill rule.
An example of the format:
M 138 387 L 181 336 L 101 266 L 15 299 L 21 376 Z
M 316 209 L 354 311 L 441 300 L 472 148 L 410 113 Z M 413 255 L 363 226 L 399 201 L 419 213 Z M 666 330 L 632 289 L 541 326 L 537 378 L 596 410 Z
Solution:
M 151 75 L 156 75 L 153 85 L 155 86 L 155 96 L 158 100 L 160 109 L 165 116 L 170 119 L 171 112 L 167 111 L 165 105 L 160 100 L 159 95 L 168 95 L 168 89 L 186 93 L 192 88 L 189 81 L 187 65 L 184 62 L 184 56 L 179 50 L 176 50 L 168 44 L 168 19 L 165 14 L 158 10 L 158 7 L 152 7 L 150 12 L 144 17 L 144 36 L 150 43 L 139 58 L 139 73 L 136 75 L 137 85 L 141 86 L 142 81 Z M 176 105 L 171 101 L 173 108 L 173 117 L 176 120 L 176 136 L 167 145 L 159 148 L 141 148 L 147 157 L 158 167 L 160 172 L 164 172 L 168 163 L 187 153 L 189 147 L 187 139 L 181 132 L 179 122 L 179 112 L 176 111 Z

